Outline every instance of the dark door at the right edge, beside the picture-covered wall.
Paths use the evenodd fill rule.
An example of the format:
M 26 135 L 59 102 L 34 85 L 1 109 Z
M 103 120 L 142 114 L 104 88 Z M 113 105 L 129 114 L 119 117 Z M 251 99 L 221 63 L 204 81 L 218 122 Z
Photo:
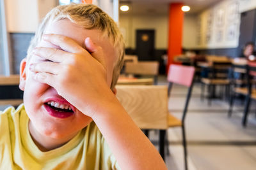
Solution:
M 256 10 L 241 13 L 240 36 L 238 54 L 243 50 L 246 43 L 255 41 L 256 38 Z

